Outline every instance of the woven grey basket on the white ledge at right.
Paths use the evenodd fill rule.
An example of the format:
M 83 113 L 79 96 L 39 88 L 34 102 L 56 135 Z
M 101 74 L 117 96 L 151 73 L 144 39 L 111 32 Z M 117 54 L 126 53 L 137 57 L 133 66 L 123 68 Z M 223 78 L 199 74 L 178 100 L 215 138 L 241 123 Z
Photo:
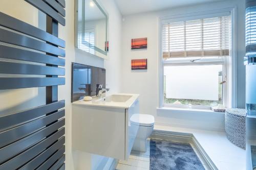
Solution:
M 227 109 L 225 113 L 225 130 L 229 141 L 245 149 L 245 109 Z

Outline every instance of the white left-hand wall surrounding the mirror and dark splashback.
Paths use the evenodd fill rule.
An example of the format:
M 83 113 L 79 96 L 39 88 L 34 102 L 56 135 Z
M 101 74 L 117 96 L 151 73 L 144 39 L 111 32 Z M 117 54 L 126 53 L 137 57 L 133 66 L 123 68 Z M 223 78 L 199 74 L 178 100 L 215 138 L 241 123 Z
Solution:
M 110 92 L 119 91 L 120 82 L 120 56 L 121 56 L 121 25 L 122 18 L 113 0 L 101 0 L 105 10 L 109 13 L 109 60 L 84 53 L 74 47 L 74 1 L 66 1 L 66 27 L 59 25 L 59 37 L 66 41 L 66 85 L 59 86 L 59 100 L 66 100 L 66 169 L 92 169 L 98 163 L 95 160 L 103 160 L 102 157 L 91 154 L 72 152 L 71 143 L 71 62 L 77 62 L 106 69 L 106 84 Z M 78 132 L 80 133 L 80 132 Z M 87 158 L 93 158 L 93 164 L 87 162 Z M 79 160 L 79 161 L 78 161 Z M 104 162 L 104 161 L 103 161 Z

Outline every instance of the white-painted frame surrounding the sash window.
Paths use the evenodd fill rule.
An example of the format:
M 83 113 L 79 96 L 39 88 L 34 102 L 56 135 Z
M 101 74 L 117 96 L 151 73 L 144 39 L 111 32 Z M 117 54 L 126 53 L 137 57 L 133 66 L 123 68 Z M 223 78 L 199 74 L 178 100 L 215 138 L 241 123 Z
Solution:
M 223 86 L 223 104 L 227 108 L 236 108 L 237 107 L 237 35 L 236 35 L 236 8 L 226 8 L 212 11 L 203 11 L 197 13 L 188 13 L 183 15 L 173 15 L 173 16 L 165 16 L 159 17 L 159 108 L 162 107 L 178 107 L 178 108 L 190 108 L 188 105 L 173 105 L 173 104 L 164 104 L 164 63 L 162 57 L 162 25 L 169 22 L 176 21 L 184 21 L 184 20 L 193 20 L 193 19 L 201 19 L 201 18 L 210 18 L 210 17 L 218 17 L 224 15 L 231 15 L 231 50 L 229 57 L 225 59 L 225 64 L 223 66 L 223 70 L 227 72 L 228 75 L 228 83 L 225 83 Z M 178 60 L 177 60 L 178 61 Z M 204 62 L 191 62 L 190 64 L 212 64 L 213 61 L 204 61 Z M 217 62 L 218 63 L 218 62 Z M 179 65 L 180 62 L 168 63 L 172 65 Z M 188 63 L 187 63 L 188 64 Z M 224 89 L 225 88 L 225 89 Z M 207 106 L 193 106 L 193 109 L 210 109 Z

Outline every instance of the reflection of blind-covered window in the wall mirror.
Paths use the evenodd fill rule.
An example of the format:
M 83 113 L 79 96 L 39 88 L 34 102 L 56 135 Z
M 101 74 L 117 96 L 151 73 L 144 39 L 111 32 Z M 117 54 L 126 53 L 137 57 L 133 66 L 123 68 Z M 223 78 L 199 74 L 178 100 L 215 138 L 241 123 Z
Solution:
M 84 33 L 79 31 L 78 34 L 78 48 L 91 54 L 95 54 L 95 29 L 87 28 L 84 29 Z

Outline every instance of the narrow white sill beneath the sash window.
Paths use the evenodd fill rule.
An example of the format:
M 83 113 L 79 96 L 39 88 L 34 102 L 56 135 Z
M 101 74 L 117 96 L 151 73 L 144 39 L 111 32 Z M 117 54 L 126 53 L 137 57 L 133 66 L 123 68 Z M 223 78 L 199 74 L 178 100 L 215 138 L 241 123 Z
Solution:
M 195 108 L 177 108 L 177 107 L 158 107 L 158 111 L 171 111 L 176 113 L 215 113 L 215 114 L 225 114 L 225 112 L 214 112 L 210 109 L 195 109 Z

